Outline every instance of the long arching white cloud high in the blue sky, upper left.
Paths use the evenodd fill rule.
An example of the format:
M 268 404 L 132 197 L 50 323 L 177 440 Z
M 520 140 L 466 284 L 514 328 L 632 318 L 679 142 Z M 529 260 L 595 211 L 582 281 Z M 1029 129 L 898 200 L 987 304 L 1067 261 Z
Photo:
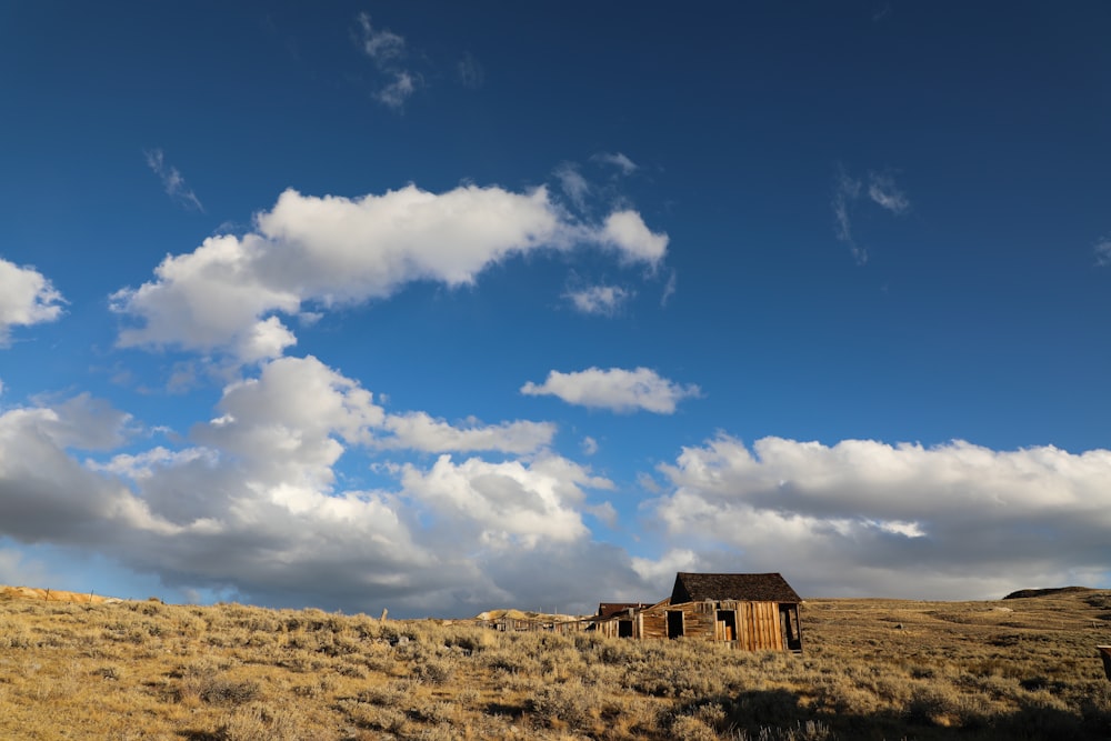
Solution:
M 575 244 L 615 247 L 624 261 L 655 266 L 668 242 L 634 211 L 601 227 L 573 221 L 543 188 L 431 193 L 408 186 L 356 199 L 287 190 L 254 221 L 242 237 L 212 237 L 168 256 L 153 280 L 117 291 L 112 309 L 133 320 L 118 343 L 259 361 L 296 342 L 277 314 L 300 316 L 304 302 L 358 303 L 418 280 L 471 284 L 509 256 Z

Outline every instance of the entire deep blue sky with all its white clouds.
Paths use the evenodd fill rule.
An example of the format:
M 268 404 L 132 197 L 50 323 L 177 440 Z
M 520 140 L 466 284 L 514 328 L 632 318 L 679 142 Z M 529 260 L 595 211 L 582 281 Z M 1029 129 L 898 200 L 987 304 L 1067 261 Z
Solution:
M 0 582 L 1111 587 L 1109 27 L 7 3 Z

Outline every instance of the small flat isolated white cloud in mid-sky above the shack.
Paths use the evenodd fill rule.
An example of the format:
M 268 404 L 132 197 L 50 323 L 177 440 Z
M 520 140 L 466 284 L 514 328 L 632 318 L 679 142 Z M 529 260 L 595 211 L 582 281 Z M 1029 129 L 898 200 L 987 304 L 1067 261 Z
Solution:
M 569 404 L 614 412 L 673 414 L 680 401 L 700 397 L 702 390 L 662 378 L 649 368 L 588 368 L 571 373 L 550 371 L 543 383 L 529 381 L 521 387 L 521 393 L 552 395 Z

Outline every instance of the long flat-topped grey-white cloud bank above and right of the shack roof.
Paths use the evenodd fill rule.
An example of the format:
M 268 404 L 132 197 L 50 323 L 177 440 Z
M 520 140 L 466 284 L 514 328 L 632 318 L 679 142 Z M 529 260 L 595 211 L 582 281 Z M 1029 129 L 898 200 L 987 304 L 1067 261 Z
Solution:
M 1109 575 L 1111 451 L 719 437 L 661 471 L 649 509 L 675 547 L 807 594 L 992 599 Z

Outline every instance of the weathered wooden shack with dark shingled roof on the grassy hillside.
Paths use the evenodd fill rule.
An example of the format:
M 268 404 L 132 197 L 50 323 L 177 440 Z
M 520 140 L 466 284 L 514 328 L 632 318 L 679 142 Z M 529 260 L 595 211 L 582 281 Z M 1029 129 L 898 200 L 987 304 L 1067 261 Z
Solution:
M 748 651 L 801 651 L 801 602 L 778 573 L 680 572 L 669 599 L 637 613 L 633 637 L 723 641 Z

